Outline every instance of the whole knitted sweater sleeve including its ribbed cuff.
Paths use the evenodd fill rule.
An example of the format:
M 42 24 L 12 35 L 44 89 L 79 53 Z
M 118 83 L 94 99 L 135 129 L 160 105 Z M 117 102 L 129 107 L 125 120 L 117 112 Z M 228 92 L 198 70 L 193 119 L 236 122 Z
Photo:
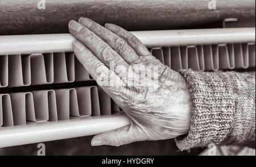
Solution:
M 255 72 L 180 70 L 191 93 L 191 126 L 181 150 L 216 145 L 255 148 Z

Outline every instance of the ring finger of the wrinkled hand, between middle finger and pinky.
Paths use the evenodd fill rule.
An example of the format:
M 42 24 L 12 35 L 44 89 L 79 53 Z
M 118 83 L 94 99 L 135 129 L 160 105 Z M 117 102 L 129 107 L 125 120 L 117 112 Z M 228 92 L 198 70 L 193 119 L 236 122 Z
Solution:
M 90 31 L 94 32 L 97 36 L 101 37 L 106 43 L 110 45 L 123 60 L 131 64 L 134 61 L 139 59 L 139 56 L 130 47 L 125 40 L 123 40 L 118 35 L 114 34 L 112 31 L 109 31 L 105 27 L 102 27 L 100 24 L 93 22 L 88 18 L 80 18 L 79 23 L 83 24 L 85 27 L 89 28 Z

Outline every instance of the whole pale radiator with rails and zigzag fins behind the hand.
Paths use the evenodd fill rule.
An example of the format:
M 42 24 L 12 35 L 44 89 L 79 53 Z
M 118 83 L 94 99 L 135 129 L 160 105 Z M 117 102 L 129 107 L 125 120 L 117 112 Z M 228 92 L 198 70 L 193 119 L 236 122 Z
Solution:
M 174 70 L 255 69 L 255 28 L 132 33 Z M 65 86 L 95 83 L 72 52 L 72 41 L 70 34 L 0 36 L 0 147 L 130 124 L 100 87 Z

